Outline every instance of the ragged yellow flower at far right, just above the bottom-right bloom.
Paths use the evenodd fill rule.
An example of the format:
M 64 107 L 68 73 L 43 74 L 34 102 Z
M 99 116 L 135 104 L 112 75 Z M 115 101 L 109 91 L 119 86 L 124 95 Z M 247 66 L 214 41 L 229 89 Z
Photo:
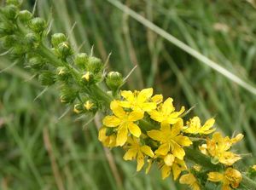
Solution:
M 210 154 L 213 158 L 218 158 L 218 162 L 226 165 L 232 165 L 241 159 L 236 153 L 228 150 L 237 141 L 241 141 L 243 135 L 238 134 L 235 138 L 223 137 L 219 132 L 212 135 L 212 140 L 207 139 L 207 144 L 203 144 L 200 149 L 201 153 Z

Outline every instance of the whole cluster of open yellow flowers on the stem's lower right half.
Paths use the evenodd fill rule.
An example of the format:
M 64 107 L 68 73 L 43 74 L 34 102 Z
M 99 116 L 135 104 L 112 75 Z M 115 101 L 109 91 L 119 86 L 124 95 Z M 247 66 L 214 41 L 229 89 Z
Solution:
M 123 147 L 125 160 L 137 160 L 137 171 L 143 169 L 147 160 L 146 173 L 155 163 L 163 179 L 171 174 L 174 180 L 180 176 L 180 183 L 188 184 L 193 190 L 201 189 L 206 182 L 198 181 L 195 177 L 203 173 L 208 175 L 207 181 L 221 181 L 223 189 L 239 186 L 241 173 L 232 165 L 241 157 L 229 149 L 241 141 L 243 135 L 230 139 L 215 132 L 211 139 L 210 135 L 216 130 L 213 127 L 214 118 L 201 124 L 200 118 L 194 117 L 184 125 L 184 107 L 176 111 L 172 98 L 163 101 L 162 95 L 153 95 L 152 88 L 120 91 L 118 98 L 111 102 L 110 110 L 111 114 L 102 120 L 99 140 L 106 147 Z M 198 142 L 195 139 L 201 140 Z M 186 147 L 192 145 L 197 146 L 195 153 L 196 149 L 200 150 L 211 158 L 212 164 L 222 164 L 226 168 L 224 173 L 221 170 L 201 170 L 202 163 L 189 168 Z

